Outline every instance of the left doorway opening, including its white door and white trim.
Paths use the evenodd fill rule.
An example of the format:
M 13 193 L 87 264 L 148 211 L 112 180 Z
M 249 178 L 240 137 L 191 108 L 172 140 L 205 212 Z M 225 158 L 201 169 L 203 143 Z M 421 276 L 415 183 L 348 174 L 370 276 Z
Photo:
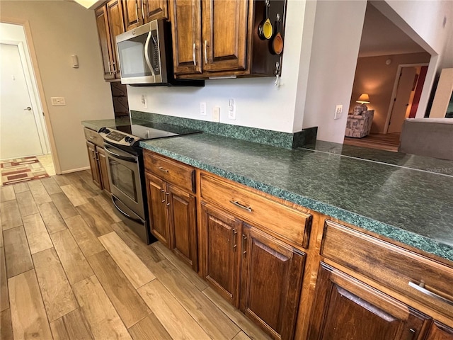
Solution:
M 25 30 L 0 23 L 0 160 L 37 157 L 55 175 L 49 134 Z

